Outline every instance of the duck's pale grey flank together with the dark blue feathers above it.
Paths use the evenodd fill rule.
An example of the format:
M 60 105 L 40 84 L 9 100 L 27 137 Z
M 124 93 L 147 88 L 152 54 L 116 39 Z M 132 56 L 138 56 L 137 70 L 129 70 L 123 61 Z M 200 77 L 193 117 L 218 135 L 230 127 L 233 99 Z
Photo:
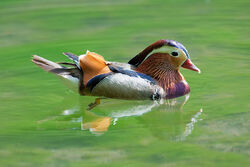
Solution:
M 90 95 L 119 99 L 159 99 L 164 90 L 149 76 L 133 70 L 109 66 L 112 72 L 92 78 Z

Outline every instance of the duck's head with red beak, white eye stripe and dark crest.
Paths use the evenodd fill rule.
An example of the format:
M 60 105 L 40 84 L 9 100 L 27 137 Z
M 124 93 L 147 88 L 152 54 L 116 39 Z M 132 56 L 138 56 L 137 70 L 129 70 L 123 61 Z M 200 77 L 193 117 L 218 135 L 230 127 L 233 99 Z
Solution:
M 135 67 L 144 64 L 144 68 L 154 65 L 165 70 L 179 70 L 183 67 L 200 73 L 199 68 L 191 62 L 187 49 L 174 40 L 156 41 L 128 63 Z

